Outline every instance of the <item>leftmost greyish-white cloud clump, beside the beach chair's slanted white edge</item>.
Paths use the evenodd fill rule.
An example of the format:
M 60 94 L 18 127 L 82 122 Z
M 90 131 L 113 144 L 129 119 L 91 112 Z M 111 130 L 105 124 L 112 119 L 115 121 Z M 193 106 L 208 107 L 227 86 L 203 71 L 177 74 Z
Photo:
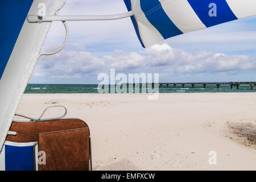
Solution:
M 35 76 L 52 78 L 81 77 L 104 67 L 104 60 L 85 51 L 62 51 L 43 57 L 35 68 Z

